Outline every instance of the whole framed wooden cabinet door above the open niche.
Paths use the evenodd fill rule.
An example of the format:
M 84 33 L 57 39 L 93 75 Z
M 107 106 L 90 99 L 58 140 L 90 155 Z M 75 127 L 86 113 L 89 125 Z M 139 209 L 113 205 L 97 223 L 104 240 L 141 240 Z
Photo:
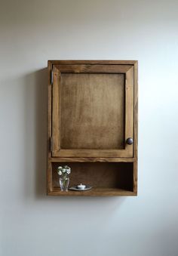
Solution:
M 133 65 L 53 65 L 53 157 L 133 157 Z

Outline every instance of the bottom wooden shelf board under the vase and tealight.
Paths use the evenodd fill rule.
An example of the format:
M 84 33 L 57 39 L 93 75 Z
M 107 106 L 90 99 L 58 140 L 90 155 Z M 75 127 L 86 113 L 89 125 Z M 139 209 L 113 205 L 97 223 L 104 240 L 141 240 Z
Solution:
M 119 188 L 110 187 L 93 187 L 87 191 L 61 191 L 60 187 L 54 187 L 54 190 L 49 192 L 50 196 L 137 196 L 137 193 L 129 190 L 121 190 Z

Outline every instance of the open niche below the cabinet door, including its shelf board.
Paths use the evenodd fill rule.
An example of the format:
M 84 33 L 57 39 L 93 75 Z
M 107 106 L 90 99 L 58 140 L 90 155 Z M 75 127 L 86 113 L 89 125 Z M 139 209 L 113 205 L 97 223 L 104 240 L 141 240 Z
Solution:
M 92 187 L 87 191 L 63 192 L 60 190 L 57 167 L 68 165 L 69 187 L 86 184 Z M 134 196 L 133 162 L 52 162 L 51 192 L 54 196 Z

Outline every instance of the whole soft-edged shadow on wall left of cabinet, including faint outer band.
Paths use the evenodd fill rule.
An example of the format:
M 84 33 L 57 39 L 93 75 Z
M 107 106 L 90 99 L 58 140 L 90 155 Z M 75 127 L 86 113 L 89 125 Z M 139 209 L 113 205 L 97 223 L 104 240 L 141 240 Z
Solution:
M 46 196 L 48 69 L 25 77 L 25 199 Z

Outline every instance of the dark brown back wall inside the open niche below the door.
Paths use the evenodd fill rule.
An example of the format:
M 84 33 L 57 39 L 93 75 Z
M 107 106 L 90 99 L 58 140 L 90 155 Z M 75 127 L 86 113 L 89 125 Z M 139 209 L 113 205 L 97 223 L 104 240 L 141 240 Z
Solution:
M 122 162 L 63 162 L 72 168 L 70 174 L 70 187 L 77 184 L 87 184 L 92 187 L 118 187 L 133 190 L 133 163 Z M 52 178 L 54 187 L 60 187 L 57 167 L 52 165 Z

